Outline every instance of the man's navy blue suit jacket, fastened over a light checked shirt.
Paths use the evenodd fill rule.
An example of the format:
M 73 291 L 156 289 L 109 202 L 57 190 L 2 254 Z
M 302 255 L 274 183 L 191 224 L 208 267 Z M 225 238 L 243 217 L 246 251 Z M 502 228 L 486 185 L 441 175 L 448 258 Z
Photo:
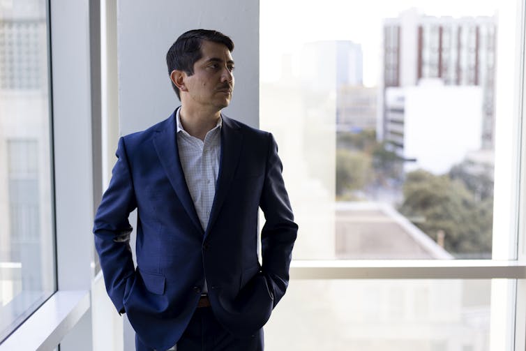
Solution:
M 270 133 L 223 116 L 216 195 L 202 229 L 186 186 L 176 119 L 121 137 L 93 233 L 107 292 L 137 336 L 165 350 L 179 340 L 206 281 L 211 308 L 232 334 L 250 336 L 285 294 L 297 225 Z M 264 212 L 262 262 L 257 214 Z M 137 209 L 137 268 L 126 237 Z

